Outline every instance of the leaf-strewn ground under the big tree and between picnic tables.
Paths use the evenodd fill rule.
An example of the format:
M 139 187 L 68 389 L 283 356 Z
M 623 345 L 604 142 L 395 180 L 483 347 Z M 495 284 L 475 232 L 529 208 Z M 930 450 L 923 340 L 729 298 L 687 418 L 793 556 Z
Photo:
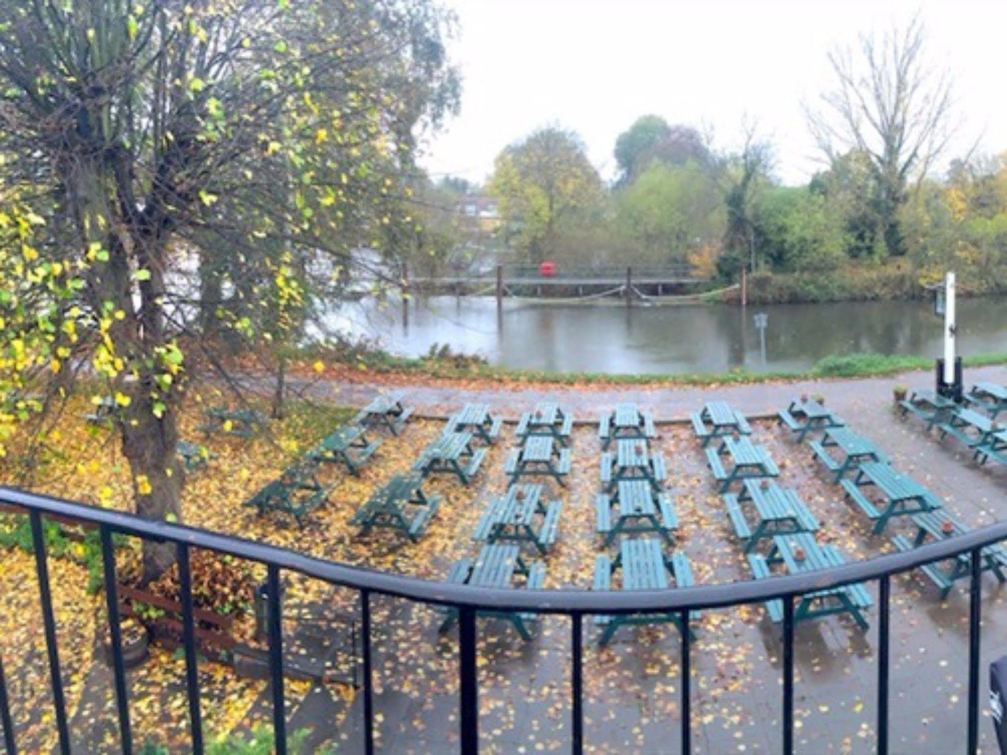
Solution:
M 759 387 L 752 387 L 759 391 Z M 830 402 L 832 400 L 830 399 Z M 978 470 L 947 444 L 936 444 L 911 422 L 895 421 L 887 406 L 852 397 L 841 413 L 854 429 L 890 451 L 894 463 L 916 475 L 948 500 L 971 524 L 1003 514 L 1002 480 Z M 221 403 L 207 397 L 206 403 Z M 578 411 L 596 415 L 596 404 Z M 424 407 L 436 412 L 456 408 L 449 400 Z M 509 406 L 513 417 L 524 406 Z M 47 440 L 45 463 L 23 484 L 103 505 L 128 507 L 132 481 L 117 443 L 106 430 L 78 420 L 85 407 L 71 406 L 60 432 Z M 660 413 L 659 413 L 660 416 Z M 324 469 L 332 486 L 327 505 L 304 527 L 282 517 L 259 517 L 242 502 L 275 477 L 290 460 L 337 426 L 346 412 L 337 408 L 296 407 L 289 419 L 275 422 L 268 437 L 249 442 L 214 436 L 208 468 L 192 475 L 185 488 L 187 523 L 267 541 L 311 555 L 370 568 L 442 578 L 453 560 L 472 556 L 471 532 L 489 497 L 503 492 L 506 449 L 514 442 L 506 426 L 490 449 L 483 471 L 469 486 L 448 477 L 432 478 L 429 492 L 444 497 L 426 537 L 408 544 L 389 532 L 361 538 L 348 519 L 375 486 L 408 469 L 442 423 L 416 421 L 401 438 L 386 438 L 359 478 L 341 469 Z M 199 439 L 199 405 L 182 422 L 183 436 Z M 798 446 L 774 425 L 755 424 L 755 439 L 765 443 L 781 467 L 781 481 L 796 487 L 822 522 L 820 540 L 836 544 L 849 559 L 888 550 L 887 540 L 869 535 L 858 511 L 841 502 L 841 490 L 821 474 L 807 446 Z M 699 583 L 747 579 L 749 572 L 723 505 L 704 466 L 699 444 L 688 426 L 661 428 L 658 448 L 669 467 L 669 490 L 680 518 L 677 548 L 691 559 Z M 595 430 L 578 427 L 573 444 L 569 489 L 553 487 L 563 500 L 560 537 L 546 558 L 548 588 L 588 588 L 600 543 L 594 532 L 593 496 L 598 488 L 600 446 Z M 20 470 L 8 460 L 5 479 Z M 18 734 L 27 750 L 44 750 L 55 741 L 48 705 L 47 667 L 41 616 L 30 555 L 2 552 L 0 622 L 4 630 L 7 673 Z M 120 559 L 129 554 L 120 555 Z M 71 728 L 83 751 L 114 752 L 115 718 L 111 674 L 101 659 L 104 641 L 102 597 L 88 595 L 87 570 L 69 559 L 50 559 L 60 640 L 60 660 L 74 712 Z M 354 612 L 350 592 L 287 575 L 285 629 L 297 632 L 298 607 L 315 615 Z M 984 662 L 996 657 L 1007 639 L 998 617 L 1003 591 L 984 580 Z M 875 586 L 870 586 L 876 594 Z M 962 587 L 942 603 L 928 583 L 916 576 L 893 582 L 892 744 L 917 752 L 961 749 L 967 691 L 968 599 Z M 457 742 L 457 638 L 439 635 L 439 615 L 405 601 L 376 598 L 376 707 L 379 744 L 387 751 L 429 752 L 453 749 Z M 797 631 L 797 738 L 806 752 L 869 752 L 874 746 L 876 609 L 864 633 L 844 619 L 800 625 Z M 569 742 L 569 620 L 545 618 L 534 641 L 522 642 L 510 624 L 480 619 L 480 733 L 487 750 L 565 751 Z M 612 643 L 598 648 L 592 623 L 585 637 L 585 727 L 588 748 L 597 752 L 676 750 L 679 742 L 680 641 L 668 625 L 624 628 Z M 239 627 L 252 632 L 252 620 Z M 708 611 L 696 627 L 693 649 L 692 713 L 697 751 L 766 751 L 779 746 L 779 629 L 761 606 Z M 182 749 L 188 719 L 184 663 L 176 654 L 155 651 L 131 672 L 132 713 L 137 738 L 156 736 Z M 263 682 L 241 680 L 227 667 L 200 665 L 204 726 L 207 732 L 248 731 L 268 722 L 269 692 Z M 292 726 L 314 729 L 312 746 L 331 743 L 355 751 L 361 707 L 351 688 L 288 682 Z M 989 724 L 983 722 L 985 734 Z M 100 743 L 106 743 L 104 746 Z

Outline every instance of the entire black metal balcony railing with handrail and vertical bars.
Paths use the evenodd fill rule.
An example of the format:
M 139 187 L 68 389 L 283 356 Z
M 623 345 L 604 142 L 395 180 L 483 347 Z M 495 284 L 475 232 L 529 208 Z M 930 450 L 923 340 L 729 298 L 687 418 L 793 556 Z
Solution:
M 476 614 L 483 609 L 521 611 L 565 615 L 572 620 L 572 749 L 583 749 L 582 656 L 585 616 L 594 614 L 673 613 L 680 614 L 680 626 L 689 626 L 690 614 L 704 609 L 725 608 L 779 598 L 783 604 L 782 621 L 782 744 L 783 752 L 794 751 L 794 623 L 795 598 L 817 590 L 841 587 L 855 582 L 878 581 L 880 614 L 878 632 L 877 678 L 877 751 L 888 751 L 888 666 L 889 666 L 889 598 L 891 577 L 923 564 L 969 554 L 971 565 L 969 611 L 969 681 L 968 681 L 968 752 L 975 753 L 979 743 L 979 652 L 981 607 L 981 551 L 986 546 L 1007 540 L 1007 522 L 998 522 L 966 535 L 921 546 L 913 551 L 880 556 L 875 559 L 846 564 L 834 569 L 768 580 L 697 585 L 675 590 L 640 590 L 630 592 L 591 592 L 587 590 L 496 590 L 431 582 L 369 569 L 349 567 L 315 559 L 274 546 L 254 543 L 226 535 L 169 523 L 153 521 L 133 514 L 75 503 L 9 487 L 0 487 L 0 504 L 15 506 L 27 512 L 31 522 L 39 597 L 45 630 L 50 684 L 52 687 L 55 722 L 61 752 L 69 753 L 69 730 L 59 668 L 55 621 L 49 593 L 45 541 L 42 519 L 46 515 L 70 518 L 97 526 L 101 533 L 105 588 L 110 622 L 110 643 L 115 675 L 119 732 L 124 752 L 132 751 L 132 735 L 126 673 L 119 631 L 119 606 L 116 595 L 116 567 L 112 535 L 121 534 L 144 540 L 173 543 L 178 549 L 179 587 L 183 617 L 183 642 L 186 664 L 191 744 L 195 753 L 202 752 L 202 725 L 199 709 L 199 688 L 196 675 L 196 638 L 193 620 L 192 586 L 189 571 L 190 549 L 205 549 L 230 555 L 267 567 L 268 638 L 270 682 L 273 697 L 273 723 L 277 753 L 287 752 L 286 720 L 284 715 L 283 633 L 280 612 L 280 577 L 283 572 L 299 573 L 332 585 L 356 590 L 359 594 L 363 695 L 364 750 L 372 753 L 374 740 L 374 696 L 371 599 L 375 594 L 404 598 L 423 604 L 450 606 L 458 611 L 459 625 L 459 719 L 463 753 L 478 749 L 478 683 L 476 675 Z M 681 751 L 691 752 L 691 677 L 689 632 L 682 632 L 681 662 Z M 9 701 L 0 662 L 0 722 L 3 724 L 7 752 L 15 753 L 16 742 Z

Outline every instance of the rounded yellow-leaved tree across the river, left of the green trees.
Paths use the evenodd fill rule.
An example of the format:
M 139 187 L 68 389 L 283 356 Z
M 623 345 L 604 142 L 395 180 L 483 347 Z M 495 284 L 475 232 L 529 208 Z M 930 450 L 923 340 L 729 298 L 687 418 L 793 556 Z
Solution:
M 540 263 L 556 253 L 561 223 L 597 203 L 601 179 L 580 138 L 550 126 L 497 155 L 488 189 L 512 236 Z

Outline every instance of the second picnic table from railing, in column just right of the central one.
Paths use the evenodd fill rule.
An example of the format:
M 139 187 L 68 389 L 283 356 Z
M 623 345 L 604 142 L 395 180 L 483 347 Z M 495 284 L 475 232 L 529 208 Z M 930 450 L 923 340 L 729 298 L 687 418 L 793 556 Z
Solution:
M 818 519 L 797 490 L 781 487 L 774 480 L 746 479 L 740 492 L 724 493 L 723 498 L 734 532 L 745 542 L 745 553 L 754 551 L 762 539 L 819 528 Z M 754 526 L 742 510 L 743 503 L 754 509 Z

